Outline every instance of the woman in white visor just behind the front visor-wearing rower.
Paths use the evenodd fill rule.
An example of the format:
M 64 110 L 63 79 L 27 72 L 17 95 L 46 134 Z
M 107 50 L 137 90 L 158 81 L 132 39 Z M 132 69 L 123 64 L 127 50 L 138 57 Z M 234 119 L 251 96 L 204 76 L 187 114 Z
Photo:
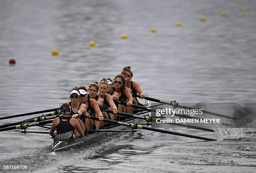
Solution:
M 80 103 L 86 104 L 87 116 L 88 117 L 96 117 L 99 118 L 100 121 L 103 120 L 102 112 L 100 111 L 100 107 L 95 99 L 88 98 L 87 89 L 84 86 L 80 86 L 79 92 L 81 93 Z M 90 129 L 100 129 L 102 126 L 102 122 L 96 120 L 90 120 Z

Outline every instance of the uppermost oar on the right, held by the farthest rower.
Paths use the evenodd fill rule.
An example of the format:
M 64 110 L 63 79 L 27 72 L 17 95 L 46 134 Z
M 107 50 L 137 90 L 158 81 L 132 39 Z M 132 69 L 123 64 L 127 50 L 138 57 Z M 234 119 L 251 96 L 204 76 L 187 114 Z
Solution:
M 135 95 L 135 96 L 141 98 L 139 95 Z M 177 103 L 175 101 L 174 102 L 167 102 L 167 101 L 155 99 L 155 98 L 152 98 L 152 97 L 145 97 L 144 99 L 150 100 L 152 102 L 168 104 L 168 105 L 171 105 L 172 107 L 179 107 L 179 108 L 183 108 L 183 109 L 195 109 L 194 107 L 188 107 L 188 106 L 185 106 L 183 104 Z M 205 114 L 211 114 L 211 115 L 215 115 L 217 117 L 223 117 L 223 118 L 228 118 L 228 119 L 232 119 L 232 120 L 238 119 L 238 118 L 235 118 L 235 117 L 230 117 L 230 116 L 227 116 L 227 115 L 218 114 L 218 113 L 215 113 L 215 112 L 210 112 L 210 111 L 203 110 L 203 109 L 202 109 L 202 112 L 205 113 Z

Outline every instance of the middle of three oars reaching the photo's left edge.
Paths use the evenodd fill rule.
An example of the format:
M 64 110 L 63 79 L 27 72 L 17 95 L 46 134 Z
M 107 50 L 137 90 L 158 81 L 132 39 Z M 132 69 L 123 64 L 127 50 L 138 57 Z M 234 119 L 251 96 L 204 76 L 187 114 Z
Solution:
M 39 117 L 34 117 L 28 120 L 23 120 L 23 121 L 19 121 L 19 122 L 13 122 L 13 123 L 9 123 L 9 124 L 5 124 L 5 125 L 0 125 L 0 128 L 4 128 L 4 127 L 10 127 L 13 125 L 19 125 L 22 124 L 23 122 L 39 122 L 39 121 L 44 121 L 47 120 L 47 117 L 49 116 L 54 116 L 54 115 L 59 115 L 60 114 L 60 110 L 55 110 L 54 112 L 51 112 L 50 114 L 46 114 L 44 116 L 39 116 Z

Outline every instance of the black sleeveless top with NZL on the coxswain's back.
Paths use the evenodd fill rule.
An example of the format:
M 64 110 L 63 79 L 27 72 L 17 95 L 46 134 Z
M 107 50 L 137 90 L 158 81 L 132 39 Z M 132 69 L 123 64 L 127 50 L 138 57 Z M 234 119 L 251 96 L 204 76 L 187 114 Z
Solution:
M 55 138 L 60 140 L 74 139 L 74 127 L 70 124 L 72 117 L 60 116 L 58 118 L 59 124 L 56 126 L 57 135 Z

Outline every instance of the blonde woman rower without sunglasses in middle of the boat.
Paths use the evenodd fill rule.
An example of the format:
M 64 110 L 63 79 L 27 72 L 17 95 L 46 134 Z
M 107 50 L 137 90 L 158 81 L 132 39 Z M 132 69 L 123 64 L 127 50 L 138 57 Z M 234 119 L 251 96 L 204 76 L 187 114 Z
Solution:
M 103 99 L 103 107 L 102 109 L 104 110 L 113 110 L 114 114 L 107 113 L 107 112 L 102 112 L 104 117 L 108 117 L 108 119 L 115 120 L 115 114 L 118 113 L 118 109 L 113 102 L 113 98 L 111 97 L 110 94 L 106 94 L 108 90 L 108 81 L 106 78 L 103 78 L 100 81 L 99 84 L 99 92 L 97 93 L 98 97 L 101 97 Z

